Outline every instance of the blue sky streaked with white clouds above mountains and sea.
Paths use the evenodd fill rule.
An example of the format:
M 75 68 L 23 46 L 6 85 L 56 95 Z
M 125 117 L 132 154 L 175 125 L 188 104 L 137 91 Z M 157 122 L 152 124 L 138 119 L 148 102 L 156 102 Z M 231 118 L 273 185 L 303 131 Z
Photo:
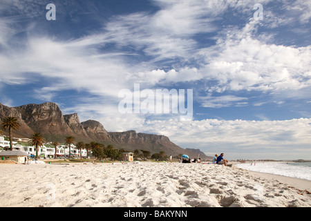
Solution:
M 0 0 L 0 102 L 229 160 L 311 160 L 310 18 L 304 0 Z

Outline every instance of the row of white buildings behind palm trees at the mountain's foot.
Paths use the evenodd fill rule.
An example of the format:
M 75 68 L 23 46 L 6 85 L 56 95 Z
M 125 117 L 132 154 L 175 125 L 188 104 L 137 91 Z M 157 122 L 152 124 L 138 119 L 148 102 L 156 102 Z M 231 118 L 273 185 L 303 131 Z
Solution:
M 35 156 L 36 149 L 35 146 L 28 146 L 27 143 L 29 140 L 27 139 L 14 139 L 13 141 L 13 151 L 22 151 L 27 153 L 28 156 Z M 5 148 L 10 148 L 10 142 L 5 140 L 3 136 L 0 136 L 0 152 Z M 51 144 L 44 144 L 44 146 L 40 146 L 38 149 L 38 155 L 41 158 L 54 158 L 55 157 L 55 146 Z M 57 157 L 66 157 L 69 155 L 69 146 L 66 145 L 58 145 L 56 148 L 56 156 Z M 73 157 L 86 157 L 86 149 L 82 149 L 81 151 L 77 149 L 75 145 L 70 146 L 70 155 Z

